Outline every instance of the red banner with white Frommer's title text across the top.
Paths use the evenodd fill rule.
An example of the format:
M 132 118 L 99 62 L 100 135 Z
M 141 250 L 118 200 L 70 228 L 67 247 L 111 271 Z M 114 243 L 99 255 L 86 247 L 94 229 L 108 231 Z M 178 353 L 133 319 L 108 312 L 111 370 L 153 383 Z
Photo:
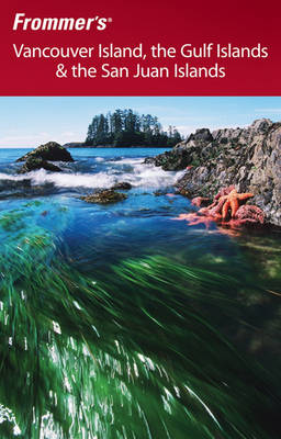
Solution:
M 280 1 L 10 1 L 1 95 L 279 95 Z

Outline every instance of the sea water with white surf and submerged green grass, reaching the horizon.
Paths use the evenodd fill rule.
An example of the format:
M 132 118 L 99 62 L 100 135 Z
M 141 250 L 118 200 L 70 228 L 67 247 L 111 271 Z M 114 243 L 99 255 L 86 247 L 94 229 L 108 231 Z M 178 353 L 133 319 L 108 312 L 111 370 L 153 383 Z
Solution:
M 175 221 L 159 151 L 0 150 L 1 438 L 280 437 L 281 235 Z

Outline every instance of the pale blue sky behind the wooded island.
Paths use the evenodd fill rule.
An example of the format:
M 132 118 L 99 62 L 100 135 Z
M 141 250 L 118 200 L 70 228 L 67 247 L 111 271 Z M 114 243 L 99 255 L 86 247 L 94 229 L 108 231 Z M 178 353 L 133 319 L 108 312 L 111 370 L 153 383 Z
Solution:
M 0 147 L 83 142 L 92 117 L 116 109 L 156 115 L 164 130 L 176 126 L 184 137 L 202 127 L 281 121 L 281 97 L 0 97 Z

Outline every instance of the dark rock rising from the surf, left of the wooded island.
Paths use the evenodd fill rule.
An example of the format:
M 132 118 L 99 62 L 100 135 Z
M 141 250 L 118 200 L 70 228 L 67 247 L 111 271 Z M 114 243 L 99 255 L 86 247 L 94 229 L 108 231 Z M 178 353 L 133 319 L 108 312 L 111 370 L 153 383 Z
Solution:
M 25 161 L 29 158 L 41 158 L 50 161 L 74 161 L 70 153 L 56 142 L 48 142 L 45 145 L 41 145 L 33 151 L 18 158 L 16 161 Z

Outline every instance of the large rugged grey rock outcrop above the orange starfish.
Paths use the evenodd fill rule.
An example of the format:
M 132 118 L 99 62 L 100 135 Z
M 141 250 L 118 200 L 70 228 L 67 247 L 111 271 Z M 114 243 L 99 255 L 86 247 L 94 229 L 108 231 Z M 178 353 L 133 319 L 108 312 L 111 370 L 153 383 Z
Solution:
M 162 166 L 161 156 L 154 159 L 156 166 Z M 177 183 L 180 193 L 213 198 L 234 184 L 254 194 L 250 203 L 265 212 L 266 222 L 281 226 L 281 122 L 262 119 L 246 128 L 199 130 L 165 156 L 164 169 L 175 161 L 177 169 L 189 165 Z

